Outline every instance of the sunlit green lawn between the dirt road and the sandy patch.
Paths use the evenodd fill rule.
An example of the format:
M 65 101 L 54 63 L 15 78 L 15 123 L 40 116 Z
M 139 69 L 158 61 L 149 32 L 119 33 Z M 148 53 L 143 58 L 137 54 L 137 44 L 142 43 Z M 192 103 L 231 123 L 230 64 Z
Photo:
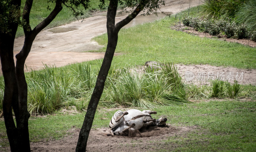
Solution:
M 242 44 L 201 38 L 170 29 L 174 17 L 153 23 L 122 29 L 118 35 L 112 65 L 143 65 L 148 60 L 181 64 L 210 64 L 213 66 L 256 68 L 256 48 Z M 95 37 L 105 52 L 107 34 Z M 96 51 L 95 51 L 96 52 Z

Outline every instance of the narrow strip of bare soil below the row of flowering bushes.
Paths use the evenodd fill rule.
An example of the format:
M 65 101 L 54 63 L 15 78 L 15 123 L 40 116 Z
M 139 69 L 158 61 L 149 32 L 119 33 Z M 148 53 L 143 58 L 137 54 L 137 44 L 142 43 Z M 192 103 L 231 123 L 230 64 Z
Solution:
M 188 34 L 193 34 L 193 35 L 196 35 L 196 36 L 199 36 L 199 37 L 214 38 L 214 39 L 218 39 L 218 40 L 222 40 L 222 41 L 240 43 L 240 44 L 243 44 L 243 45 L 248 45 L 249 44 L 248 46 L 256 47 L 256 42 L 254 42 L 252 40 L 225 38 L 225 35 L 222 35 L 222 34 L 219 34 L 218 36 L 212 36 L 209 33 L 204 33 L 204 32 L 199 32 L 199 31 L 193 30 L 192 27 L 187 27 L 187 26 L 184 26 L 183 24 L 172 26 L 171 29 L 186 32 Z

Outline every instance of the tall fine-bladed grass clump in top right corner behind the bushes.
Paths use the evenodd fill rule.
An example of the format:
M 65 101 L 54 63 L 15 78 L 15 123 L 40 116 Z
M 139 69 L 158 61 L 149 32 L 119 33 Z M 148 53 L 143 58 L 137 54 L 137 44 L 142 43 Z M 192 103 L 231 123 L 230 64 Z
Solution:
M 236 21 L 245 24 L 247 28 L 256 31 L 256 1 L 247 0 L 237 11 Z

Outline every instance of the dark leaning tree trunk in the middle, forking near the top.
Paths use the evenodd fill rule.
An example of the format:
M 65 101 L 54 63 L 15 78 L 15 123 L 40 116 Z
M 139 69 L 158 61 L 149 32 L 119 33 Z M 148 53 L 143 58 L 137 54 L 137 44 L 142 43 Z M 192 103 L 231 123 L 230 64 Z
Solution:
M 85 114 L 84 123 L 79 133 L 79 138 L 76 145 L 76 152 L 82 152 L 86 150 L 87 140 L 92 127 L 94 115 L 100 100 L 100 96 L 103 92 L 108 71 L 111 66 L 111 62 L 116 50 L 118 32 L 122 27 L 128 24 L 132 19 L 134 19 L 140 13 L 140 11 L 144 8 L 146 4 L 145 2 L 148 2 L 148 1 L 142 0 L 141 3 L 134 9 L 134 11 L 128 15 L 128 17 L 118 22 L 116 25 L 115 25 L 115 17 L 116 17 L 118 0 L 110 0 L 109 2 L 108 12 L 107 12 L 108 45 L 107 45 L 106 53 L 99 71 L 99 75 L 97 77 L 96 85 L 92 92 L 92 97 Z

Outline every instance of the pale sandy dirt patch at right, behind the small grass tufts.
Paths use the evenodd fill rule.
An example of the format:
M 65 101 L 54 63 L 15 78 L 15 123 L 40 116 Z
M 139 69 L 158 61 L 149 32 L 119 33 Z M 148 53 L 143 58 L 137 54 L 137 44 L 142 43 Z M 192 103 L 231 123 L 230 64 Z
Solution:
M 239 84 L 256 85 L 256 69 L 239 69 L 232 67 L 216 67 L 211 65 L 176 64 L 185 83 L 209 85 L 212 80 L 228 81 Z

